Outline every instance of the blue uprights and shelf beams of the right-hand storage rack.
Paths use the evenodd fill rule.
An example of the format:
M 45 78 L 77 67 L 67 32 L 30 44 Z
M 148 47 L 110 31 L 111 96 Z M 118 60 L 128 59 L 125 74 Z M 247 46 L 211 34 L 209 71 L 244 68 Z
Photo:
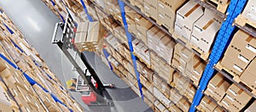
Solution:
M 119 2 L 120 10 L 121 10 L 121 15 L 122 15 L 123 23 L 124 23 L 126 36 L 127 36 L 127 39 L 128 39 L 130 50 L 131 50 L 132 59 L 133 59 L 133 62 L 134 62 L 134 68 L 137 71 L 136 57 L 132 53 L 133 52 L 132 43 L 131 43 L 132 34 L 128 31 L 128 25 L 127 25 L 127 22 L 126 22 L 126 19 L 125 19 L 125 5 L 134 9 L 138 14 L 143 15 L 144 18 L 151 21 L 154 25 L 158 26 L 162 31 L 165 31 L 166 34 L 168 34 L 169 36 L 172 36 L 172 34 L 169 31 L 166 31 L 166 29 L 163 28 L 162 26 L 156 24 L 154 22 L 154 20 L 149 19 L 145 14 L 141 13 L 137 8 L 134 8 L 133 6 L 131 6 L 129 3 L 125 2 L 124 0 L 118 0 L 118 2 Z M 223 18 L 224 21 L 222 23 L 222 26 L 221 26 L 219 32 L 218 32 L 217 39 L 213 44 L 212 53 L 210 54 L 209 59 L 206 60 L 207 61 L 207 67 L 204 70 L 204 73 L 201 77 L 200 84 L 199 84 L 198 89 L 195 93 L 193 103 L 192 103 L 192 105 L 189 109 L 189 111 L 191 111 L 191 112 L 195 111 L 195 107 L 200 103 L 201 98 L 204 95 L 203 92 L 207 88 L 207 83 L 210 81 L 211 77 L 213 76 L 213 74 L 217 70 L 214 66 L 218 63 L 218 60 L 224 54 L 225 48 L 227 48 L 227 46 L 229 45 L 229 42 L 232 39 L 232 33 L 234 33 L 235 27 L 237 26 L 238 28 L 241 28 L 242 30 L 247 31 L 252 36 L 255 36 L 255 31 L 252 31 L 252 29 L 250 29 L 249 27 L 246 27 L 246 26 L 241 27 L 240 25 L 236 25 L 236 24 L 235 24 L 236 26 L 234 26 L 234 24 L 233 24 L 237 15 L 241 14 L 242 9 L 244 8 L 245 4 L 247 3 L 247 0 L 231 0 L 229 8 L 226 11 L 226 14 L 220 13 L 218 10 L 213 8 L 211 5 L 209 5 L 207 3 L 204 3 L 204 2 L 201 2 L 200 0 L 195 0 L 195 2 L 200 3 L 201 6 L 203 6 L 204 8 L 208 8 L 208 9 L 212 10 L 213 12 L 218 14 L 221 18 Z M 85 13 L 88 15 L 88 19 L 90 20 L 90 18 L 91 18 L 90 14 L 88 14 L 87 8 L 84 5 L 83 0 L 81 0 L 81 3 L 83 4 Z M 177 42 L 179 42 L 179 41 L 177 40 Z M 183 42 L 181 42 L 181 43 L 183 43 Z M 194 52 L 194 53 L 199 55 L 199 53 L 196 53 L 196 52 Z M 226 74 L 224 74 L 221 71 L 219 71 L 219 72 L 222 73 L 225 77 L 227 77 L 230 81 L 233 81 L 230 78 L 230 76 L 227 76 Z M 136 72 L 136 73 L 137 73 L 137 81 L 138 81 L 138 85 L 140 87 L 141 96 L 143 98 L 143 92 L 141 90 L 141 83 L 140 83 L 140 79 L 139 79 L 139 74 L 138 74 L 138 72 Z M 236 81 L 233 81 L 233 82 L 236 83 Z M 240 87 L 243 88 L 244 90 L 246 90 L 246 92 L 248 92 L 246 88 L 242 87 L 241 85 L 240 85 Z M 254 95 L 253 95 L 253 97 L 255 98 Z M 214 99 L 212 99 L 212 100 L 214 101 Z

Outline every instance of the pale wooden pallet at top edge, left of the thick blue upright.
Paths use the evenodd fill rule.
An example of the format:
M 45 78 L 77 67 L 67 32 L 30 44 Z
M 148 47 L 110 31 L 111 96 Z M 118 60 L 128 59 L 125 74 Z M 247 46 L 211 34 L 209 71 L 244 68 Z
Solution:
M 226 4 L 218 3 L 216 0 L 204 0 L 206 3 L 214 6 L 219 12 L 225 14 L 226 10 L 228 9 L 230 2 Z

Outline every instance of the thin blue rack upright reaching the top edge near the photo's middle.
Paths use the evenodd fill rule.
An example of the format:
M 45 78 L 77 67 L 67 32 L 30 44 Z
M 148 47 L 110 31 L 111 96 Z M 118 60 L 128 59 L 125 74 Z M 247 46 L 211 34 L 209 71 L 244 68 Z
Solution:
M 134 67 L 134 70 L 135 70 L 135 73 L 136 73 L 136 76 L 137 76 L 137 84 L 138 84 L 138 87 L 139 87 L 139 90 L 140 90 L 140 93 L 141 93 L 141 97 L 142 97 L 142 99 L 144 99 L 142 84 L 141 84 L 141 80 L 140 80 L 140 74 L 137 71 L 137 63 L 136 63 L 137 58 L 133 54 L 131 33 L 128 31 L 128 25 L 127 25 L 127 21 L 126 21 L 126 18 L 125 18 L 125 3 L 122 0 L 118 0 L 118 2 L 119 2 L 120 12 L 121 12 L 121 15 L 122 15 L 123 24 L 124 24 L 124 27 L 125 27 L 125 33 L 126 33 L 129 48 L 130 48 L 133 67 Z

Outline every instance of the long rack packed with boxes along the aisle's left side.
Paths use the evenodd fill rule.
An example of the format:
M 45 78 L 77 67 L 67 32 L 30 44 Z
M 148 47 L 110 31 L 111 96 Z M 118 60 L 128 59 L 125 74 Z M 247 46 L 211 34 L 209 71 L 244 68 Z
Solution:
M 36 49 L 1 12 L 0 78 L 6 95 L 1 95 L 2 111 L 82 111 Z

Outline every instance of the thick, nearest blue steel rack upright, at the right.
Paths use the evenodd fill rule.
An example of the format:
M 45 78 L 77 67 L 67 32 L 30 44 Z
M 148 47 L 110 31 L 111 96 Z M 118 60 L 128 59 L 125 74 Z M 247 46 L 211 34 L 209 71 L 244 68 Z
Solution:
M 196 106 L 201 102 L 203 92 L 207 88 L 207 84 L 213 76 L 215 70 L 213 66 L 218 63 L 218 60 L 222 57 L 225 48 L 229 45 L 230 40 L 232 39 L 232 33 L 235 30 L 236 26 L 233 26 L 233 22 L 236 19 L 238 14 L 241 14 L 242 9 L 244 8 L 247 0 L 231 0 L 230 6 L 227 10 L 227 18 L 221 25 L 221 28 L 218 32 L 216 41 L 214 42 L 212 53 L 209 58 L 206 69 L 204 70 L 203 76 L 201 77 L 200 84 L 195 92 L 195 97 L 189 109 L 189 112 L 195 112 Z

